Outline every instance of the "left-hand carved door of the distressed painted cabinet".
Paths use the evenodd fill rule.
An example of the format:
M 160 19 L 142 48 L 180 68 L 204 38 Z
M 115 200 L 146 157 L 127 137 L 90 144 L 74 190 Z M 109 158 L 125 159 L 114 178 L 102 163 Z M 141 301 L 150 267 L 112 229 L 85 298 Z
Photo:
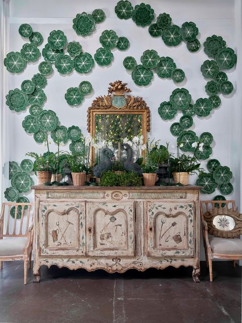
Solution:
M 38 216 L 40 255 L 85 255 L 85 202 L 40 202 Z

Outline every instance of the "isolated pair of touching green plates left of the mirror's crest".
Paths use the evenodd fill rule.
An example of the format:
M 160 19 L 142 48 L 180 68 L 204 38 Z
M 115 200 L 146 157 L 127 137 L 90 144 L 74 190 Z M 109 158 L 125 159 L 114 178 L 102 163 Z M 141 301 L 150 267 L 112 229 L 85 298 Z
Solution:
M 69 105 L 80 105 L 85 95 L 89 95 L 93 91 L 92 84 L 89 81 L 82 81 L 78 88 L 69 88 L 65 93 L 65 100 Z

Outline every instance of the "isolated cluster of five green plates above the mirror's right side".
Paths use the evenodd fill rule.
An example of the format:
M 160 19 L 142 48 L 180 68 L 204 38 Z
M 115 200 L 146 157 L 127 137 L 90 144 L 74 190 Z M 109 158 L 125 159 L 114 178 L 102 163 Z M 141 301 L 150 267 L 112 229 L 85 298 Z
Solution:
M 160 57 L 155 50 L 146 50 L 141 56 L 142 65 L 137 65 L 136 59 L 127 56 L 123 60 L 126 70 L 132 71 L 132 78 L 137 85 L 147 85 L 153 78 L 153 70 L 161 78 L 171 78 L 174 82 L 182 82 L 185 73 L 177 66 L 172 58 Z

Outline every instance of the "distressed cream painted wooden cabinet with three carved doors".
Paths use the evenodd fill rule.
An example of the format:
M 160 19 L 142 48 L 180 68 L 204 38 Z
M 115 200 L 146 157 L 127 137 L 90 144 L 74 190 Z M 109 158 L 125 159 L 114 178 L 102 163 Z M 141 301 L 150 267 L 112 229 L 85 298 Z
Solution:
M 35 282 L 42 265 L 110 273 L 191 266 L 199 282 L 199 187 L 32 188 Z

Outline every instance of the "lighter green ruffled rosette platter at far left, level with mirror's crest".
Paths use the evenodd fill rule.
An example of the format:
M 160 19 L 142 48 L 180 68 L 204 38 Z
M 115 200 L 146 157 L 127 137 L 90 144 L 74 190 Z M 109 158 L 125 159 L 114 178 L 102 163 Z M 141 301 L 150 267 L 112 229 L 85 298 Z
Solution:
M 24 111 L 29 105 L 29 96 L 19 89 L 10 90 L 6 95 L 6 104 L 15 112 Z

